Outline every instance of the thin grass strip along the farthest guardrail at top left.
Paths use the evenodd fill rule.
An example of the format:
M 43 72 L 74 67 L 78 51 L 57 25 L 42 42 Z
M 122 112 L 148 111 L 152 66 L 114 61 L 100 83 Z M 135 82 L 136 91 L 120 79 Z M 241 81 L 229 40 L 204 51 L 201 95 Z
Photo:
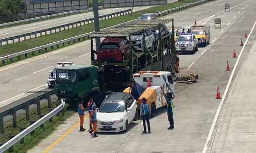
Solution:
M 98 0 L 98 5 L 102 6 L 102 0 Z M 89 8 L 92 8 L 92 7 L 93 7 L 93 0 L 89 0 Z M 91 11 L 85 10 L 85 11 L 79 11 L 79 12 L 74 12 L 74 13 L 69 13 L 69 14 L 58 15 L 58 16 L 51 16 L 51 17 L 47 17 L 47 18 L 41 18 L 41 19 L 37 19 L 37 20 L 31 20 L 31 21 L 6 25 L 6 26 L 3 26 L 3 27 L 0 27 L 0 29 L 8 28 L 8 27 L 14 27 L 14 26 L 17 26 L 17 25 L 29 24 L 29 23 L 38 22 L 38 21 L 50 20 L 50 19 L 54 19 L 54 18 L 66 17 L 66 16 L 71 16 L 71 15 L 76 15 L 76 14 L 82 14 L 82 13 L 87 13 L 87 12 L 91 12 Z M 0 22 L 0 24 L 2 24 L 2 23 L 5 23 L 5 22 Z

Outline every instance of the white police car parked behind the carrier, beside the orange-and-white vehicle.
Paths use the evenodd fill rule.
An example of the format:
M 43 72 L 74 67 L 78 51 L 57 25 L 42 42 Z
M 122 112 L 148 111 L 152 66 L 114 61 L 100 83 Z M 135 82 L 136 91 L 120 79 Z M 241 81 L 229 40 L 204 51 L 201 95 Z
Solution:
M 198 39 L 195 37 L 194 34 L 181 33 L 181 35 L 177 39 L 175 48 L 178 52 L 188 51 L 191 54 L 195 54 L 195 51 L 198 51 Z

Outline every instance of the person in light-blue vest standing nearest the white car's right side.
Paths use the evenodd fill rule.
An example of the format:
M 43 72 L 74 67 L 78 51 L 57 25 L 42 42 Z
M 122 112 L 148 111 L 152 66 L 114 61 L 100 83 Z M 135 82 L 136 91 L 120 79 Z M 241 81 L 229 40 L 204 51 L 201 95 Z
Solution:
M 146 123 L 147 123 L 147 128 L 148 128 L 148 133 L 151 133 L 150 130 L 150 106 L 148 103 L 146 103 L 146 98 L 143 97 L 141 99 L 142 103 L 140 104 L 140 117 L 143 120 L 143 127 L 144 131 L 142 133 L 146 133 Z

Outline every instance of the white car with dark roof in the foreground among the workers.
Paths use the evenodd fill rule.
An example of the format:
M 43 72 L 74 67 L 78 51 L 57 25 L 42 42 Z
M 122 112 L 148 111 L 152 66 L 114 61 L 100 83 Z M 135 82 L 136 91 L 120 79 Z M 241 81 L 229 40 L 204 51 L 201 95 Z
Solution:
M 97 112 L 97 132 L 127 131 L 138 119 L 137 101 L 130 93 L 113 92 L 106 96 Z

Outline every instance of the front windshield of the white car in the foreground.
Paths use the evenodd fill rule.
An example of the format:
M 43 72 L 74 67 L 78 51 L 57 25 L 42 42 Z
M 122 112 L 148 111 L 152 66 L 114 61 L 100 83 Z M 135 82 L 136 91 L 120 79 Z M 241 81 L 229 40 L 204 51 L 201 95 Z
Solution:
M 125 109 L 123 101 L 104 101 L 100 107 L 100 113 L 123 112 Z

